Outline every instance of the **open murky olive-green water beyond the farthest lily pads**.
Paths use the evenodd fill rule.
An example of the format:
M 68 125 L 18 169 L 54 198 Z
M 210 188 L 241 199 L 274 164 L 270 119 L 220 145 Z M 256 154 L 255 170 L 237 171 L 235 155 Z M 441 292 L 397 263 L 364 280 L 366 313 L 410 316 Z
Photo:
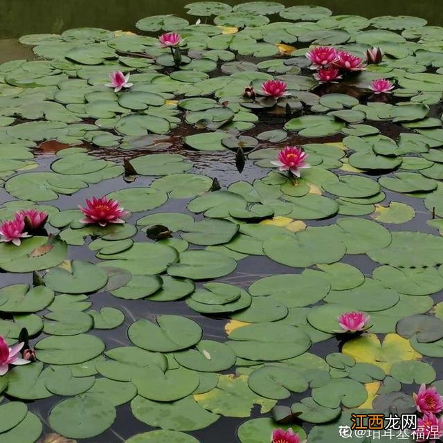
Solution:
M 184 6 L 190 0 L 0 0 L 0 38 L 20 37 L 33 33 L 61 33 L 69 28 L 95 26 L 110 30 L 134 30 L 137 20 L 150 15 L 175 14 L 186 17 Z M 226 0 L 235 5 L 239 0 Z M 379 15 L 413 15 L 428 24 L 443 23 L 443 2 L 435 0 L 283 0 L 286 6 L 325 6 L 334 15 L 352 14 L 363 17 Z M 400 8 L 401 6 L 401 8 Z M 186 18 L 192 21 L 192 17 Z

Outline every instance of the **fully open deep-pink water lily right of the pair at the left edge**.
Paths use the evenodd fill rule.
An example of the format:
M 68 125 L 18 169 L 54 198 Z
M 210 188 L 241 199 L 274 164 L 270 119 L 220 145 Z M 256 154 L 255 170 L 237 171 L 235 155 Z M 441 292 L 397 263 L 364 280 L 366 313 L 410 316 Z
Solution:
M 80 222 L 84 224 L 98 224 L 106 226 L 108 223 L 125 223 L 122 217 L 129 214 L 127 210 L 120 207 L 120 203 L 106 197 L 92 197 L 86 201 L 86 208 L 78 206 L 84 214 L 84 219 Z

